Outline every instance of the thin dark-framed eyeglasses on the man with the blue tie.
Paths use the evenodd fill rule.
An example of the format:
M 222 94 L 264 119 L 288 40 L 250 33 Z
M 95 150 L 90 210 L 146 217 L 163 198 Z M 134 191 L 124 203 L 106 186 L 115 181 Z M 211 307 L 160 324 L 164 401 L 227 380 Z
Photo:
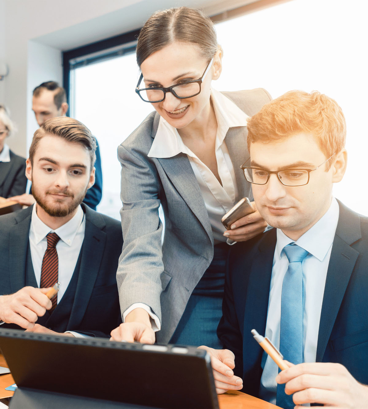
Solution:
M 280 182 L 285 186 L 304 186 L 309 182 L 310 173 L 325 164 L 334 155 L 335 154 L 331 155 L 314 169 L 285 169 L 284 171 L 266 171 L 265 169 L 261 168 L 244 166 L 250 158 L 247 159 L 245 163 L 240 166 L 240 168 L 244 172 L 245 179 L 254 184 L 266 184 L 269 180 L 269 175 L 275 174 Z

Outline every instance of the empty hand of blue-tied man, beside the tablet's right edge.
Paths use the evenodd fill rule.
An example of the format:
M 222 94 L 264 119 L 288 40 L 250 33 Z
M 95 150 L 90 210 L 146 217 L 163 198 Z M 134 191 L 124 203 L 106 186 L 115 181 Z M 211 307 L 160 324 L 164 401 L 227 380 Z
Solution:
M 235 356 L 231 351 L 228 349 L 213 349 L 204 345 L 198 348 L 206 350 L 211 357 L 216 393 L 220 394 L 229 390 L 238 391 L 242 389 L 242 379 L 233 373 Z

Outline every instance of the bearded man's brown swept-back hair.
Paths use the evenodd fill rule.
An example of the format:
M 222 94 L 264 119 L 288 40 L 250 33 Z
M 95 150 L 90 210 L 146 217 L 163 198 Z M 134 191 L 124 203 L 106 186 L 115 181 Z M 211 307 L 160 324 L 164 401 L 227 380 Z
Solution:
M 29 160 L 32 165 L 37 144 L 45 135 L 55 135 L 68 142 L 85 146 L 90 153 L 92 170 L 96 160 L 96 139 L 94 139 L 91 131 L 81 122 L 69 117 L 56 117 L 45 121 L 34 133 L 29 148 Z

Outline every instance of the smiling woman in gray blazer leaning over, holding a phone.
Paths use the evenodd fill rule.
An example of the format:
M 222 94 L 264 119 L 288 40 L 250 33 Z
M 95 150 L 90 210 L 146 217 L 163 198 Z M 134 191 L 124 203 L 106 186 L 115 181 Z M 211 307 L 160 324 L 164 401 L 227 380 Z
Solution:
M 136 92 L 155 112 L 118 148 L 124 324 L 112 339 L 153 343 L 158 330 L 159 342 L 220 347 L 229 244 L 265 229 L 258 211 L 230 230 L 221 218 L 251 198 L 240 169 L 249 158 L 247 117 L 271 99 L 263 89 L 213 90 L 221 58 L 213 23 L 196 9 L 158 11 L 139 34 Z

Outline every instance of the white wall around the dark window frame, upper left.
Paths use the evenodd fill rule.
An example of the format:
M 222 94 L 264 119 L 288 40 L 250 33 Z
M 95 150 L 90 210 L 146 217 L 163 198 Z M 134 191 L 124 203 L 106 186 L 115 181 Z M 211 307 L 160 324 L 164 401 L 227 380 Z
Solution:
M 208 14 L 254 0 L 0 0 L 0 59 L 9 75 L 0 101 L 18 127 L 8 143 L 23 156 L 37 124 L 31 91 L 43 81 L 62 81 L 61 51 L 141 27 L 157 9 L 200 7 Z

